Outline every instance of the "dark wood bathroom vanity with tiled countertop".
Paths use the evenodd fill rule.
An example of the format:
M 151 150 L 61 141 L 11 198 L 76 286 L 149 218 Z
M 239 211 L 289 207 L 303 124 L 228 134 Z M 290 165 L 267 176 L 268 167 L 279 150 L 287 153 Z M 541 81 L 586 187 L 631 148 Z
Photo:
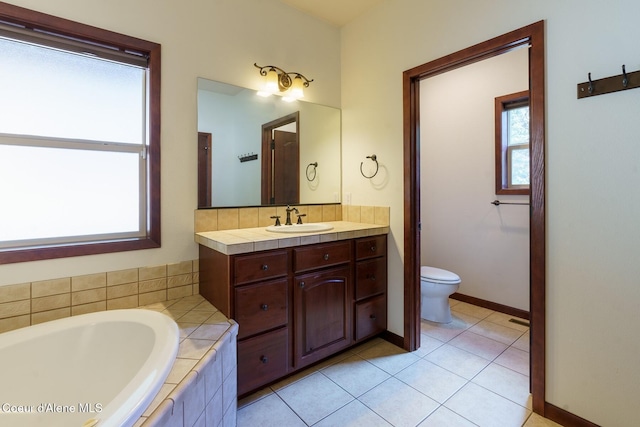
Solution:
M 238 395 L 386 330 L 388 227 L 332 224 L 196 234 L 200 293 L 239 324 Z

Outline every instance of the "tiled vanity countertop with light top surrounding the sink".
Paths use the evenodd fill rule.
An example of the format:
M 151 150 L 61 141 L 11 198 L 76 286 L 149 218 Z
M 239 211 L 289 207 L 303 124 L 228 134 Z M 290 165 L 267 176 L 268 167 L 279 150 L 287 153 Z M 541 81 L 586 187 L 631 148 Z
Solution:
M 324 224 L 332 225 L 333 229 L 313 233 L 274 233 L 267 231 L 266 227 L 203 231 L 195 234 L 195 241 L 225 255 L 235 255 L 389 233 L 388 225 L 349 221 Z

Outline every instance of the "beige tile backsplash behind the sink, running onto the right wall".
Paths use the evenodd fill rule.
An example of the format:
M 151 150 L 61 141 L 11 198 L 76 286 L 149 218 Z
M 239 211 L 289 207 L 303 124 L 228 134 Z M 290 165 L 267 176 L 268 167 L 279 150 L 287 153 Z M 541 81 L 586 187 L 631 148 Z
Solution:
M 389 207 L 355 205 L 295 205 L 307 222 L 350 221 L 377 225 L 389 225 Z M 274 224 L 271 219 L 279 215 L 284 224 L 287 217 L 285 206 L 253 208 L 196 209 L 195 232 L 233 230 L 239 228 L 267 227 Z M 295 219 L 295 216 L 292 218 Z

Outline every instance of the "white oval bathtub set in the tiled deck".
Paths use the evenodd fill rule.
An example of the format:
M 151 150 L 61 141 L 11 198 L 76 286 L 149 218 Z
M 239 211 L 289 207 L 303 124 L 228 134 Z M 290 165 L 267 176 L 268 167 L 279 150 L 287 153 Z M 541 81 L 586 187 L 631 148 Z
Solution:
M 0 426 L 132 426 L 169 374 L 178 337 L 172 319 L 142 309 L 0 334 Z

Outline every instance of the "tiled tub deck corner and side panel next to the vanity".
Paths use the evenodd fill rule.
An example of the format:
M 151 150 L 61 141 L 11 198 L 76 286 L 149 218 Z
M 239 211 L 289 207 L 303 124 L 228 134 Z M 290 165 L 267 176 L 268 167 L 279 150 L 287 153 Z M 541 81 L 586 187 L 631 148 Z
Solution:
M 134 427 L 235 426 L 238 324 L 200 295 L 142 308 L 173 318 L 180 346 L 164 385 Z

